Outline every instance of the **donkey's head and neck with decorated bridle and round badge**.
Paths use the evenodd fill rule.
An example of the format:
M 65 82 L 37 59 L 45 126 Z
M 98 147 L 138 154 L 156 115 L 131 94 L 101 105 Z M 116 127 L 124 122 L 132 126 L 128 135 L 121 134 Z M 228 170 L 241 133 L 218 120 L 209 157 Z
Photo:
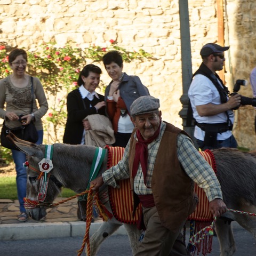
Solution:
M 89 186 L 90 171 L 94 170 L 95 154 L 99 148 L 62 143 L 36 145 L 11 133 L 9 139 L 27 155 L 25 207 L 33 219 L 40 220 L 45 217 L 46 209 L 58 196 L 62 185 L 76 193 L 82 193 Z M 108 154 L 102 154 L 102 157 L 103 163 L 95 175 L 100 175 L 106 170 Z

